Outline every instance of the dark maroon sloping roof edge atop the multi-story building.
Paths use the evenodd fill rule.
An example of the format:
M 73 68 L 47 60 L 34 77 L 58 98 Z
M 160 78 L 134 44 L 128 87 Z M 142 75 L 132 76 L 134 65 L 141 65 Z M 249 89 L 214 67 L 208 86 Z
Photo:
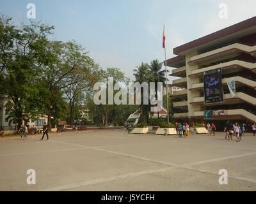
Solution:
M 184 45 L 173 48 L 173 54 L 186 55 L 189 50 L 196 47 L 214 45 L 214 43 L 224 42 L 227 40 L 235 40 L 236 38 L 243 38 L 243 36 L 250 35 L 256 31 L 256 17 L 249 18 L 237 24 L 221 29 L 214 33 L 208 34 L 202 38 L 190 41 Z M 187 52 L 186 52 L 187 51 Z M 175 58 L 175 57 L 174 57 Z

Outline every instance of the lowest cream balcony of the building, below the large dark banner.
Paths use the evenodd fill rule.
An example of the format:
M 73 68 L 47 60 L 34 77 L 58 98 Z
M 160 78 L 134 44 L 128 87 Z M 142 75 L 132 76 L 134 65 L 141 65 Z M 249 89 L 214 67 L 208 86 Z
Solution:
M 196 111 L 191 115 L 191 117 L 202 118 L 204 117 L 204 111 Z M 224 115 L 218 115 L 218 111 L 213 111 L 213 118 L 217 120 L 246 119 L 250 122 L 256 122 L 256 115 L 244 109 L 224 110 Z

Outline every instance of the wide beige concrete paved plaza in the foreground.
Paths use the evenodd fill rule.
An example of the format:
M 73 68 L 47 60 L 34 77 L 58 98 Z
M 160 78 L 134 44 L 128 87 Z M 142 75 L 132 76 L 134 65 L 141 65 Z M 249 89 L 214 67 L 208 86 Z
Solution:
M 127 134 L 124 129 L 0 138 L 0 191 L 256 191 L 256 136 Z M 28 185 L 28 169 L 36 184 Z M 219 170 L 228 172 L 220 185 Z

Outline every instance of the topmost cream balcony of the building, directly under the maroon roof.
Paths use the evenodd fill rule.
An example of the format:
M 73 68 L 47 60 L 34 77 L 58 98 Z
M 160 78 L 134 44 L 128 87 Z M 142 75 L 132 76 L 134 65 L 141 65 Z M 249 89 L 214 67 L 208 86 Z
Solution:
M 195 55 L 191 57 L 191 61 L 189 61 L 189 64 L 193 63 L 202 63 L 205 61 L 214 61 L 214 59 L 223 59 L 226 56 L 230 55 L 239 55 L 241 52 L 255 55 L 256 54 L 256 45 L 255 46 L 249 46 L 249 45 L 243 45 L 241 43 L 234 43 L 232 45 L 227 45 L 225 47 L 218 48 L 216 50 L 212 50 L 209 52 L 205 52 L 203 54 Z

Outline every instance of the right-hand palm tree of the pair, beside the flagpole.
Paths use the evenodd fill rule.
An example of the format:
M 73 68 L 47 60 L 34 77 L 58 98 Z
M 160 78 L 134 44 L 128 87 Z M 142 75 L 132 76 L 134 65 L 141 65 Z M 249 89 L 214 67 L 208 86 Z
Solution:
M 165 78 L 165 70 L 162 69 L 163 62 L 159 62 L 157 59 L 154 59 L 150 62 L 148 66 L 148 80 L 150 82 L 155 82 L 155 91 L 156 91 L 156 98 L 157 98 L 157 82 L 162 82 L 163 85 L 166 85 L 166 78 Z M 167 72 L 169 72 L 167 70 Z M 159 112 L 157 112 L 157 117 L 159 119 Z

